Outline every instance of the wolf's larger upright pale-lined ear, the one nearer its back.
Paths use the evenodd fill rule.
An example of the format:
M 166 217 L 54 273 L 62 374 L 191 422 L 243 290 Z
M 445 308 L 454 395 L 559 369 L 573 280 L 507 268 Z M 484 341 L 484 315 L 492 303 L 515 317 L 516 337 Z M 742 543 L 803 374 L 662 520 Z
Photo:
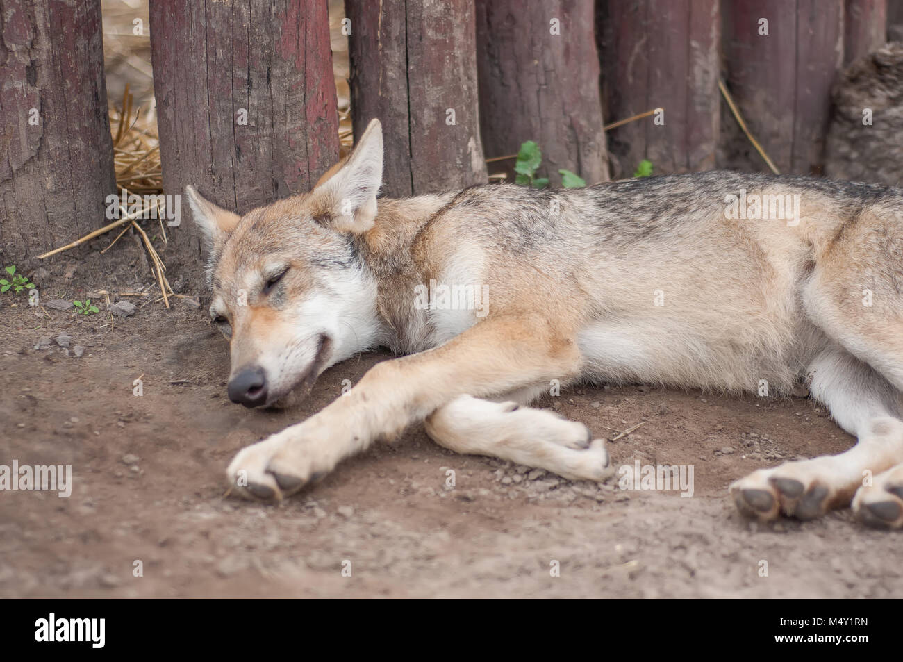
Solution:
M 383 127 L 373 119 L 354 151 L 332 166 L 311 191 L 321 210 L 315 219 L 340 232 L 367 232 L 377 218 L 377 192 L 382 182 Z

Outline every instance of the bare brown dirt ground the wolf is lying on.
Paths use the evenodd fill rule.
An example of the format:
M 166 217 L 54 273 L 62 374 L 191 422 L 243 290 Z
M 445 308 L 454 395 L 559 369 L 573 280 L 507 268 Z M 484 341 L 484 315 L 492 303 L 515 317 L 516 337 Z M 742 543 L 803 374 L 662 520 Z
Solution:
M 153 294 L 135 244 L 100 256 L 108 240 L 34 275 L 42 303 Z M 0 295 L 0 464 L 73 472 L 68 499 L 0 492 L 0 598 L 903 597 L 899 534 L 862 528 L 848 510 L 760 526 L 727 499 L 749 471 L 852 443 L 805 399 L 580 387 L 540 403 L 609 438 L 645 422 L 611 444 L 616 464 L 693 465 L 692 498 L 455 455 L 419 428 L 278 507 L 224 498 L 235 452 L 311 415 L 386 355 L 331 368 L 291 411 L 233 405 L 200 275 L 175 272 L 200 309 L 132 297 L 135 314 L 112 327 L 105 297 L 84 316 Z M 61 333 L 69 348 L 34 349 Z

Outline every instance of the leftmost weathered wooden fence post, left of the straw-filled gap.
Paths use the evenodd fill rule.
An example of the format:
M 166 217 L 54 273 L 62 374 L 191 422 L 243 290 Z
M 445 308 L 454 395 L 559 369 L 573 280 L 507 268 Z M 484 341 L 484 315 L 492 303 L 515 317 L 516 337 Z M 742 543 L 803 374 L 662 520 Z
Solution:
M 24 270 L 108 222 L 100 0 L 3 0 L 0 62 L 0 262 Z

